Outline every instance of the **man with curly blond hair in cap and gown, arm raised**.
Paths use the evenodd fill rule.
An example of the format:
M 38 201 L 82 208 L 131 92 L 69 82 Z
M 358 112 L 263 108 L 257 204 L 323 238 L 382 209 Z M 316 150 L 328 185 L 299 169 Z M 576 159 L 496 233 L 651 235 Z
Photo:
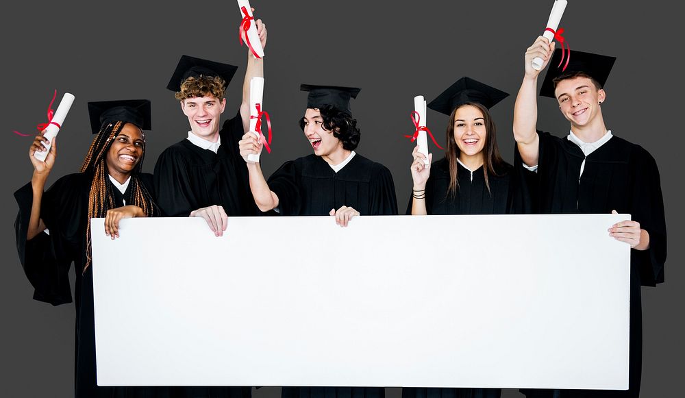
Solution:
M 256 25 L 262 46 L 266 46 L 266 25 L 261 20 Z M 249 129 L 249 82 L 252 77 L 264 76 L 263 60 L 248 51 L 240 110 L 221 125 L 225 90 L 236 69 L 181 57 L 167 88 L 180 101 L 190 131 L 186 139 L 167 148 L 155 166 L 155 190 L 164 215 L 202 217 L 216 236 L 223 235 L 227 216 L 256 214 L 238 140 Z

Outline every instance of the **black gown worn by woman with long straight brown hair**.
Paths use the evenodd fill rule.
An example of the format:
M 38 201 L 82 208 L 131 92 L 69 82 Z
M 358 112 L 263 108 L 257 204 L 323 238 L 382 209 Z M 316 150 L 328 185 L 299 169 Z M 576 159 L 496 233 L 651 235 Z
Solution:
M 459 186 L 452 197 L 449 188 L 449 164 L 443 158 L 431 165 L 426 182 L 425 203 L 427 214 L 506 214 L 510 203 L 510 173 L 512 166 L 505 164 L 488 175 L 490 190 L 485 184 L 484 166 L 469 171 L 457 163 Z M 413 198 L 409 198 L 407 214 L 412 214 Z

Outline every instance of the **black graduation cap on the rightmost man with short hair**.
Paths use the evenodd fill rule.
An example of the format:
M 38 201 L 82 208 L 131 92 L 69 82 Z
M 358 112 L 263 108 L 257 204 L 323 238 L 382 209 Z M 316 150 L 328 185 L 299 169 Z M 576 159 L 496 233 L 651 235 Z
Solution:
M 540 87 L 540 95 L 543 97 L 556 98 L 554 96 L 553 80 L 556 77 L 573 72 L 587 73 L 590 77 L 597 80 L 600 87 L 603 87 L 606 79 L 609 77 L 612 66 L 614 66 L 616 57 L 573 50 L 569 65 L 566 66 L 566 71 L 556 67 L 560 60 L 561 49 L 556 49 L 552 54 L 552 59 L 549 60 L 550 67 L 547 68 L 547 75 L 545 75 L 545 80 L 543 80 L 543 86 Z

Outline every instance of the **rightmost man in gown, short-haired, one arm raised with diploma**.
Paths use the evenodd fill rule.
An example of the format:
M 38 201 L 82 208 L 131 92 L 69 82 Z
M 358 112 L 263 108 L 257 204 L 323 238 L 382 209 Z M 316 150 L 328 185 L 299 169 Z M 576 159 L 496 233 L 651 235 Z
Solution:
M 528 199 L 534 212 L 616 211 L 632 215 L 632 220 L 616 223 L 607 232 L 632 248 L 629 389 L 523 392 L 527 397 L 638 397 L 642 366 L 640 286 L 656 286 L 664 281 L 667 254 L 659 171 L 643 147 L 614 135 L 604 123 L 601 105 L 607 94 L 603 85 L 616 58 L 574 50 L 571 62 L 562 72 L 556 68 L 561 51 L 553 50 L 554 45 L 540 36 L 525 53 L 525 76 L 514 107 L 514 166 L 529 188 Z M 564 138 L 536 132 L 540 71 L 531 66 L 536 57 L 545 60 L 543 68 L 553 65 L 547 71 L 540 95 L 556 99 L 571 124 L 571 131 Z

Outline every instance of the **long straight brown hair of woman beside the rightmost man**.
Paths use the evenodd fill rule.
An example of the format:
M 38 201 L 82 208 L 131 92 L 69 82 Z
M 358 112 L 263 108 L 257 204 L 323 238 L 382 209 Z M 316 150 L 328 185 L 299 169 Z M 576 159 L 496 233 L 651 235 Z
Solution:
M 499 147 L 497 147 L 497 131 L 495 130 L 495 122 L 493 116 L 490 116 L 490 111 L 484 105 L 477 102 L 467 102 L 454 108 L 449 115 L 449 123 L 447 124 L 447 149 L 445 150 L 445 159 L 449 164 L 449 187 L 447 188 L 447 195 L 454 197 L 459 189 L 458 164 L 457 159 L 461 154 L 457 142 L 454 140 L 454 115 L 462 106 L 471 105 L 478 108 L 483 114 L 485 121 L 485 147 L 483 148 L 483 173 L 485 175 L 485 186 L 490 192 L 490 183 L 488 182 L 488 175 L 498 175 L 496 169 L 503 166 L 504 160 L 499 154 Z

